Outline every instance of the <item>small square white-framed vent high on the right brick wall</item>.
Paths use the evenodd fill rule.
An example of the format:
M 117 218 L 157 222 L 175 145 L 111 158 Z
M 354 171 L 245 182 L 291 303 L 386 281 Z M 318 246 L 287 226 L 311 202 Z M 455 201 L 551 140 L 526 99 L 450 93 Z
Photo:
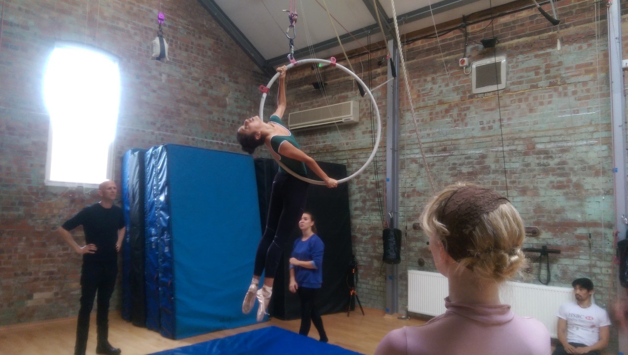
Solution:
M 506 88 L 506 56 L 475 61 L 471 65 L 473 93 Z

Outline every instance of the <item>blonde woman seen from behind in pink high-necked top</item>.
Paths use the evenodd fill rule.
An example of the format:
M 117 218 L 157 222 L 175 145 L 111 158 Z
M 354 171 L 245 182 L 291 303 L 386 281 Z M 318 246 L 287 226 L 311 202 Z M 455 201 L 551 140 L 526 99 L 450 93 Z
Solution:
M 425 207 L 438 272 L 447 277 L 447 311 L 423 326 L 389 332 L 376 354 L 550 354 L 549 332 L 499 300 L 502 282 L 525 264 L 521 216 L 504 196 L 474 184 L 440 191 Z

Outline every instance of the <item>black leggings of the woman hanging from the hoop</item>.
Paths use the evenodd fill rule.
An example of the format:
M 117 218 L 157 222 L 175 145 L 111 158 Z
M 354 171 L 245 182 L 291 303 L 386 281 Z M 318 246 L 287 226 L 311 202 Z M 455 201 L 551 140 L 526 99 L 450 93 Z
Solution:
M 253 275 L 259 277 L 266 270 L 265 277 L 275 277 L 284 246 L 305 211 L 309 185 L 284 172 L 275 175 L 266 230 L 257 245 Z

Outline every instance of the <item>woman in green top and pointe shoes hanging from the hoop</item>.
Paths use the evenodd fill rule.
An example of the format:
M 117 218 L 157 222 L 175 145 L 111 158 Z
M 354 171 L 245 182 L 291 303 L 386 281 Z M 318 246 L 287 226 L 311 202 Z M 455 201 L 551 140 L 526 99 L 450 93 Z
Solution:
M 269 122 L 264 122 L 259 116 L 244 120 L 244 124 L 237 130 L 236 138 L 242 150 L 252 154 L 255 149 L 266 144 L 274 157 L 281 160 L 289 169 L 301 176 L 306 176 L 305 166 L 309 167 L 325 182 L 328 188 L 335 188 L 338 182 L 330 178 L 318 166 L 317 162 L 299 148 L 295 137 L 282 123 L 281 117 L 286 110 L 286 66 L 277 68 L 279 72 L 279 88 L 277 93 L 277 109 Z M 242 303 L 242 312 L 251 312 L 255 299 L 259 301 L 257 321 L 261 322 L 268 309 L 268 303 L 273 294 L 273 281 L 281 252 L 290 238 L 290 233 L 303 215 L 309 184 L 288 174 L 281 167 L 273 180 L 271 201 L 268 206 L 266 230 L 257 245 L 253 279 Z M 264 286 L 257 289 L 262 272 Z

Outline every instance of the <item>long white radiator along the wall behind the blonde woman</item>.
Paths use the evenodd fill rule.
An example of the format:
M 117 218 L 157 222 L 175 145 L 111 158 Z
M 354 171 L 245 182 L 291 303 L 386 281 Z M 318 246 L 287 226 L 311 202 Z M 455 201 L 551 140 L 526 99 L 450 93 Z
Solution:
M 447 278 L 440 273 L 408 271 L 408 312 L 443 314 L 447 295 Z M 534 317 L 541 321 L 553 338 L 557 337 L 558 307 L 575 300 L 573 289 L 522 282 L 506 282 L 499 297 L 503 303 L 511 305 L 512 312 L 519 317 Z

